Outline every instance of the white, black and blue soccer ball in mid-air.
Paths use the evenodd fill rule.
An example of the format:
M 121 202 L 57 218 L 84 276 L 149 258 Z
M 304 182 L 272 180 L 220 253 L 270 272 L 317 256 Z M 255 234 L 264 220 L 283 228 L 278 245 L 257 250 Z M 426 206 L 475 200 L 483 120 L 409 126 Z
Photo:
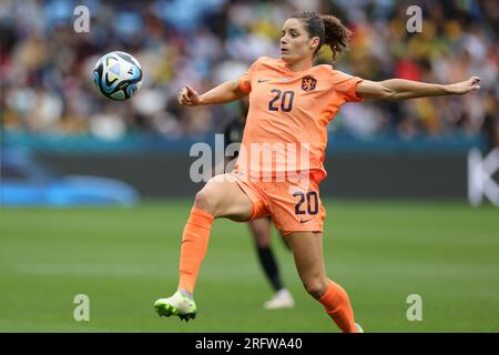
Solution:
M 99 92 L 108 99 L 128 100 L 142 85 L 141 64 L 125 52 L 110 52 L 96 62 L 93 82 Z

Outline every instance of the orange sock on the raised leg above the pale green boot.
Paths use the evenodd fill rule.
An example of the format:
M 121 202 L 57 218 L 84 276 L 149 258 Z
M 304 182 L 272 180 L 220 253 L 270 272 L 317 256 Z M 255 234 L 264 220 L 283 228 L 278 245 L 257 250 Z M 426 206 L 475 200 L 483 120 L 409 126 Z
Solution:
M 180 283 L 191 294 L 194 292 L 197 273 L 206 254 L 213 215 L 197 207 L 192 207 L 182 235 Z

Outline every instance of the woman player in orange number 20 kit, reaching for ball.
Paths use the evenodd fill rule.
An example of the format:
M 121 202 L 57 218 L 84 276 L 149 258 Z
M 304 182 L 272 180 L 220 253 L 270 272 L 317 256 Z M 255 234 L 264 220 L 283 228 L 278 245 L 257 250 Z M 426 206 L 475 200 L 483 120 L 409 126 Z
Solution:
M 298 12 L 284 22 L 281 59 L 259 58 L 235 81 L 227 81 L 200 95 L 186 85 L 179 94 L 181 104 L 195 106 L 238 100 L 249 95 L 249 112 L 244 129 L 242 151 L 234 172 L 213 178 L 196 194 L 185 224 L 181 247 L 177 292 L 160 298 L 160 315 L 193 318 L 193 298 L 197 272 L 207 248 L 214 219 L 248 221 L 271 215 L 286 235 L 298 275 L 305 290 L 320 304 L 343 332 L 359 332 L 345 290 L 326 276 L 323 257 L 325 210 L 319 199 L 319 182 L 326 176 L 323 161 L 326 125 L 345 102 L 363 99 L 404 100 L 422 97 L 465 94 L 478 90 L 479 78 L 455 84 L 430 84 L 403 79 L 369 81 L 315 65 L 313 60 L 323 44 L 333 58 L 348 44 L 350 32 L 332 16 Z M 279 145 L 281 144 L 281 145 Z M 258 161 L 262 145 L 271 146 L 273 156 L 282 156 L 282 146 L 304 149 L 307 161 L 298 165 Z M 256 148 L 256 149 L 255 149 Z M 252 151 L 252 149 L 255 149 Z M 288 150 L 289 152 L 293 149 Z M 268 151 L 265 151 L 268 158 Z M 288 152 L 286 152 L 286 156 Z M 271 154 L 271 155 L 272 155 Z M 256 162 L 256 163 L 255 163 Z M 308 179 L 295 179 L 291 170 Z M 285 181 L 278 179 L 286 176 Z M 279 181 L 268 181 L 268 178 Z M 263 176 L 263 178 L 262 178 Z M 291 179 L 293 178 L 293 179 Z

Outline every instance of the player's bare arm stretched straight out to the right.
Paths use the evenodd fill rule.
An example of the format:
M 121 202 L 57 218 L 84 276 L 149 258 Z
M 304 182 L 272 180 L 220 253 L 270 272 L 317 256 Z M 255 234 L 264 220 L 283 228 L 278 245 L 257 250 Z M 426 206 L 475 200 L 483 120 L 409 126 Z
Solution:
M 444 95 L 462 95 L 480 89 L 480 78 L 471 77 L 455 84 L 429 84 L 405 79 L 384 81 L 364 80 L 357 84 L 356 91 L 364 99 L 381 99 L 389 101 Z

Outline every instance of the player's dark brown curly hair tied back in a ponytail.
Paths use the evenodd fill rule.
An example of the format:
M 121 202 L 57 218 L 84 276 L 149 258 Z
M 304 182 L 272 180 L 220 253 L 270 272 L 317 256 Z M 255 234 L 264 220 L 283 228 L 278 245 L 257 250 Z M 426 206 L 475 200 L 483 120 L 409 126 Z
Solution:
M 333 52 L 334 61 L 336 60 L 337 53 L 340 53 L 344 49 L 348 48 L 352 31 L 348 30 L 338 18 L 329 14 L 319 16 L 315 11 L 295 12 L 291 18 L 302 21 L 310 38 L 319 38 L 319 45 L 315 50 L 314 55 L 317 54 L 323 44 L 327 44 Z

